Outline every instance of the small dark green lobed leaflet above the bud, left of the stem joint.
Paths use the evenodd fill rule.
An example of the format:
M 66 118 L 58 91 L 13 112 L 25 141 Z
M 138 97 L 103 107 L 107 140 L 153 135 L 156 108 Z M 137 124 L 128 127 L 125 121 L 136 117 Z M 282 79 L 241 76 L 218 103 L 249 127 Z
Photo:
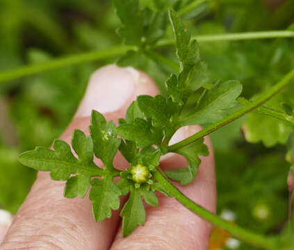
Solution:
M 138 147 L 147 147 L 154 143 L 154 136 L 150 124 L 144 119 L 136 118 L 133 124 L 122 124 L 117 128 L 117 133 L 136 142 Z

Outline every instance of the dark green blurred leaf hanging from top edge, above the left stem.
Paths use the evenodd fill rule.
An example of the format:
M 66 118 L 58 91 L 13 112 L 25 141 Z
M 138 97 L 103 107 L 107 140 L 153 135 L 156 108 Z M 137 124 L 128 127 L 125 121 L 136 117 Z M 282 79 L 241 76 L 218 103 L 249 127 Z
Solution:
M 117 33 L 124 39 L 125 44 L 140 46 L 144 28 L 144 16 L 138 5 L 138 0 L 114 0 L 122 28 Z

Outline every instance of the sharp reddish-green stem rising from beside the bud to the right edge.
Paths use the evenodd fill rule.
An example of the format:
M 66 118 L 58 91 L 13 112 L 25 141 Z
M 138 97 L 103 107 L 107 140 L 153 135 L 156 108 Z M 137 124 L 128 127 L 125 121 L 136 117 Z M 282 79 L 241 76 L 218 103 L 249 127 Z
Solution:
M 291 70 L 284 78 L 281 79 L 276 85 L 274 85 L 272 88 L 261 94 L 259 98 L 256 100 L 250 102 L 248 105 L 244 106 L 243 108 L 240 108 L 234 113 L 231 113 L 227 117 L 224 117 L 218 122 L 215 122 L 215 124 L 211 124 L 210 126 L 207 126 L 206 128 L 202 129 L 202 131 L 196 133 L 195 135 L 192 135 L 185 140 L 182 140 L 181 142 L 177 142 L 175 144 L 172 144 L 170 147 L 168 147 L 168 151 L 172 152 L 175 151 L 181 147 L 184 147 L 192 142 L 195 142 L 201 138 L 204 138 L 204 136 L 209 135 L 213 131 L 217 130 L 218 128 L 221 128 L 222 126 L 229 124 L 230 122 L 233 122 L 234 120 L 238 119 L 239 117 L 242 117 L 243 115 L 249 113 L 251 110 L 254 110 L 255 108 L 261 106 L 263 103 L 268 101 L 271 97 L 273 97 L 277 92 L 279 92 L 282 88 L 284 88 L 292 79 L 294 78 L 294 69 Z

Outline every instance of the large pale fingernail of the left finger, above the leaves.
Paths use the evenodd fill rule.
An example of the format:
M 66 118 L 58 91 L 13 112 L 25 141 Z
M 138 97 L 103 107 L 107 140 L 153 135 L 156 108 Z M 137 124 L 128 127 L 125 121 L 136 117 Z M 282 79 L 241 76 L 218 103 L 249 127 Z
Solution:
M 90 76 L 88 88 L 76 117 L 88 117 L 92 110 L 109 113 L 119 110 L 133 97 L 140 83 L 140 72 L 132 67 L 108 65 Z

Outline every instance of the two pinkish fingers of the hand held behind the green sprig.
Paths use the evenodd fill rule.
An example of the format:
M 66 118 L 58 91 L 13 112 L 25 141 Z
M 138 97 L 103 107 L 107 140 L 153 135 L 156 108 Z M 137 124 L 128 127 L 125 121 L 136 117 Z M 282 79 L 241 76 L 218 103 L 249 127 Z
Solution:
M 113 119 L 114 122 L 117 122 L 119 117 L 124 117 L 129 103 L 136 99 L 138 94 L 155 95 L 159 92 L 151 78 L 132 68 L 125 69 L 110 65 L 99 69 L 95 72 L 95 76 L 90 79 L 88 90 L 72 123 L 60 137 L 67 143 L 72 139 L 72 132 L 75 128 L 89 134 L 90 117 L 88 114 L 94 108 L 93 106 L 101 107 L 104 105 L 102 97 L 104 97 L 103 86 L 105 82 L 107 82 L 108 88 L 110 88 L 109 85 L 113 84 L 116 99 L 120 99 L 117 100 L 117 103 L 121 103 L 120 107 L 117 104 L 117 110 L 115 110 L 115 105 L 111 106 L 111 112 L 107 112 L 107 106 L 104 107 L 106 119 Z M 101 78 L 104 79 L 103 82 L 101 82 Z M 120 88 L 127 84 L 133 92 L 122 97 L 117 83 L 113 83 L 117 79 L 120 79 Z M 133 87 L 130 86 L 130 81 Z M 101 99 L 96 99 L 96 103 L 89 101 L 88 98 L 92 98 L 92 94 L 88 93 L 98 91 Z M 113 100 L 115 101 L 115 99 Z M 105 101 L 105 103 L 108 102 Z M 174 142 L 183 140 L 199 129 L 199 126 L 181 128 L 181 131 L 177 132 L 173 140 Z M 202 157 L 202 164 L 195 181 L 184 187 L 177 186 L 190 199 L 215 212 L 216 190 L 213 150 L 209 138 L 205 138 L 205 142 L 209 146 L 210 155 Z M 99 160 L 96 159 L 95 163 L 101 166 Z M 128 167 L 128 163 L 120 153 L 115 156 L 114 165 L 119 169 Z M 186 167 L 186 165 L 186 160 L 183 157 L 174 154 L 161 160 L 163 169 Z M 158 207 L 146 206 L 145 226 L 138 226 L 136 231 L 128 238 L 122 238 L 122 221 L 118 216 L 119 211 L 113 211 L 113 216 L 110 219 L 95 222 L 88 196 L 86 195 L 84 199 L 79 197 L 66 199 L 63 197 L 63 189 L 64 182 L 52 181 L 48 172 L 40 172 L 26 201 L 15 216 L 0 249 L 204 250 L 209 247 L 212 226 L 195 216 L 174 199 L 167 198 L 163 194 L 158 194 Z M 124 199 L 122 203 L 124 203 Z

